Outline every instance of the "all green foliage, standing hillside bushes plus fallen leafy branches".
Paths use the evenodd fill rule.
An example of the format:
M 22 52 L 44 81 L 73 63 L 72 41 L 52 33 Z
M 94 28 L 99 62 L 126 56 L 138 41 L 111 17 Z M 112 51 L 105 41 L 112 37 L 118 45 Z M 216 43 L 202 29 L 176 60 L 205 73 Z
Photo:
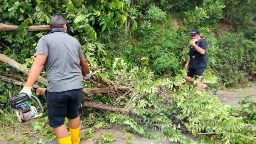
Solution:
M 0 51 L 29 68 L 38 39 L 48 32 L 27 31 L 26 26 L 47 25 L 51 15 L 63 14 L 68 33 L 80 41 L 95 75 L 132 89 L 129 95 L 86 95 L 96 103 L 132 109 L 125 115 L 83 106 L 82 126 L 92 126 L 83 139 L 93 137 L 99 128 L 119 124 L 134 134 L 183 144 L 254 144 L 256 103 L 246 99 L 235 109 L 209 92 L 198 92 L 195 84 L 185 83 L 184 64 L 189 31 L 198 28 L 208 45 L 208 68 L 201 80 L 211 87 L 254 81 L 255 12 L 254 1 L 238 0 L 0 0 L 0 22 L 19 25 L 17 32 L 0 32 Z M 19 81 L 26 78 L 5 63 L 0 64 L 0 74 Z M 19 130 L 22 125 L 7 102 L 21 87 L 0 82 L 0 124 Z M 32 125 L 41 136 L 54 138 L 47 117 Z M 156 128 L 161 134 L 148 133 Z M 98 143 L 116 140 L 102 138 Z

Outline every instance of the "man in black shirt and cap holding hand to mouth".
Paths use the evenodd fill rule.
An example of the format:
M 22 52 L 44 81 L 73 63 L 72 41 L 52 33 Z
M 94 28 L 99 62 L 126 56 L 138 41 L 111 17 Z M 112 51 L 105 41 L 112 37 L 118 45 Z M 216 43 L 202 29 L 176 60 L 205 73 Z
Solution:
M 190 32 L 192 40 L 189 41 L 189 60 L 185 64 L 185 69 L 188 70 L 186 81 L 194 82 L 194 76 L 202 76 L 207 65 L 207 46 L 203 39 L 200 37 L 198 30 Z M 197 78 L 197 77 L 195 77 Z M 198 83 L 198 89 L 205 89 L 206 84 Z

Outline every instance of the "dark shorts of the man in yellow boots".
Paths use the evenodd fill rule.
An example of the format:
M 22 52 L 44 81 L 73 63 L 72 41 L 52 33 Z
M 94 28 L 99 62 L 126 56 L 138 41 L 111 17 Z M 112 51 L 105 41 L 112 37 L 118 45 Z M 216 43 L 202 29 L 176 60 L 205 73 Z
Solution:
M 64 120 L 79 116 L 79 107 L 83 89 L 64 92 L 46 92 L 48 120 L 50 127 L 56 128 L 64 124 Z

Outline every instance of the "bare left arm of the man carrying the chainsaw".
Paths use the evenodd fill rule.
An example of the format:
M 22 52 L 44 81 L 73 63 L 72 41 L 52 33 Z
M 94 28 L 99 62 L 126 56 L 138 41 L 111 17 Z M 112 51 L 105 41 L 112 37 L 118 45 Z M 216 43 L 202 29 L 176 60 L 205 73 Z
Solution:
M 46 59 L 47 57 L 43 54 L 36 56 L 35 62 L 32 64 L 30 68 L 28 79 L 27 82 L 24 84 L 24 87 L 33 87 L 37 77 L 40 75 L 42 69 L 44 68 Z

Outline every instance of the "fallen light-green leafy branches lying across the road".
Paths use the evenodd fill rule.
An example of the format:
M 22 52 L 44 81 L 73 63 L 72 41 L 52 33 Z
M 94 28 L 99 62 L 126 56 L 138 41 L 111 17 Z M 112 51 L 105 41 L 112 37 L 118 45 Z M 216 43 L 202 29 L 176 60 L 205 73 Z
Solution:
M 99 129 L 120 125 L 123 131 L 143 137 L 184 144 L 255 143 L 255 103 L 242 102 L 238 109 L 235 109 L 223 105 L 209 92 L 198 91 L 195 84 L 185 83 L 186 71 L 176 77 L 155 80 L 153 72 L 146 67 L 135 67 L 127 72 L 127 69 L 123 69 L 127 68 L 127 63 L 120 59 L 117 61 L 115 64 L 118 68 L 115 67 L 114 71 L 115 82 L 123 81 L 126 85 L 136 85 L 130 95 L 139 97 L 127 103 L 132 106 L 129 115 L 119 112 L 87 111 L 88 116 L 82 117 L 81 127 L 92 127 L 83 133 L 83 140 L 93 138 Z M 124 81 L 127 79 L 129 83 Z M 202 80 L 206 83 L 216 83 L 217 77 L 205 75 Z M 122 101 L 127 98 L 129 97 L 124 97 Z M 115 98 L 111 99 L 114 101 Z M 118 103 L 115 104 L 118 106 Z M 67 119 L 65 122 L 67 124 Z M 37 120 L 32 125 L 33 130 L 39 135 L 54 140 L 47 117 Z M 161 130 L 161 133 L 151 134 L 152 130 Z M 185 134 L 199 139 L 194 141 Z M 111 138 L 106 139 L 108 141 Z

